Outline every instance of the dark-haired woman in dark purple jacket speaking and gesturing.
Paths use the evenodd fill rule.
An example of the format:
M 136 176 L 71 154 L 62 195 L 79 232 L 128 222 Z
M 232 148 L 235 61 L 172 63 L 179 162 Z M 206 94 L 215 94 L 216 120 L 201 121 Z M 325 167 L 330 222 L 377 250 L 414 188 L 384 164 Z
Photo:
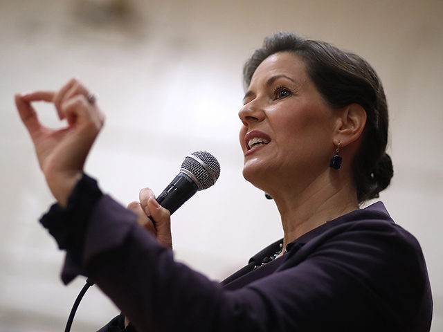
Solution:
M 429 331 L 419 243 L 381 202 L 359 208 L 392 177 L 377 74 L 357 55 L 279 33 L 246 62 L 244 82 L 244 178 L 273 197 L 284 235 L 221 284 L 174 261 L 170 214 L 149 189 L 134 214 L 82 173 L 103 116 L 80 82 L 16 95 L 58 202 L 42 223 L 67 252 L 64 282 L 91 277 L 127 331 Z M 37 100 L 68 127 L 42 127 Z

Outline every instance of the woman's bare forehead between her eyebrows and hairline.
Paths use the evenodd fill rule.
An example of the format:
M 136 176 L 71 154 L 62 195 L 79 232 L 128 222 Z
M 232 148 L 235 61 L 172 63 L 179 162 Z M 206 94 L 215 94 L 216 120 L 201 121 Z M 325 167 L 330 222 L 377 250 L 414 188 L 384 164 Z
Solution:
M 250 85 L 261 79 L 266 80 L 268 77 L 282 74 L 296 81 L 305 81 L 307 79 L 305 61 L 299 55 L 289 52 L 269 55 L 253 73 Z

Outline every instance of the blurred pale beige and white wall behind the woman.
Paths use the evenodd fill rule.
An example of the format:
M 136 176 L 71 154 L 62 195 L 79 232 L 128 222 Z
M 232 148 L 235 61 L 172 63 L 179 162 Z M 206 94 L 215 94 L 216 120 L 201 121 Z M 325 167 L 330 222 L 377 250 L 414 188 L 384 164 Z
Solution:
M 1 0 L 0 331 L 62 331 L 84 284 L 62 284 L 63 253 L 37 222 L 53 199 L 13 94 L 71 77 L 97 93 L 107 123 L 86 169 L 123 204 L 141 187 L 161 192 L 192 151 L 214 154 L 217 185 L 183 205 L 172 228 L 177 258 L 219 280 L 281 237 L 273 202 L 242 178 L 237 142 L 242 65 L 278 30 L 352 50 L 379 73 L 395 165 L 381 199 L 422 244 L 432 331 L 443 331 L 442 17 L 441 0 Z M 51 107 L 37 109 L 59 125 Z M 72 331 L 117 313 L 93 287 Z

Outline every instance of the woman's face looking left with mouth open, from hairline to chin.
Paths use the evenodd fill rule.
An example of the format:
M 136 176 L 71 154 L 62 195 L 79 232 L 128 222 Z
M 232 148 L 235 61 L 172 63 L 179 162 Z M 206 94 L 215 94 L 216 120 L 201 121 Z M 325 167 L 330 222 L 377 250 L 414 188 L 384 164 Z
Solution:
M 267 190 L 270 181 L 302 185 L 329 168 L 337 116 L 298 55 L 275 53 L 258 66 L 239 118 L 243 175 L 257 187 Z

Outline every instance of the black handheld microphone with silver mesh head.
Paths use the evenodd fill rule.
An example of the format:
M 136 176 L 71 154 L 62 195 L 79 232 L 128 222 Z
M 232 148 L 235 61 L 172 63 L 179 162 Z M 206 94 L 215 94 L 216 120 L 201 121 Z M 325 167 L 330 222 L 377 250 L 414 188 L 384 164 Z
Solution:
M 192 152 L 181 164 L 179 174 L 156 201 L 172 214 L 199 190 L 208 189 L 220 175 L 217 159 L 206 151 Z

